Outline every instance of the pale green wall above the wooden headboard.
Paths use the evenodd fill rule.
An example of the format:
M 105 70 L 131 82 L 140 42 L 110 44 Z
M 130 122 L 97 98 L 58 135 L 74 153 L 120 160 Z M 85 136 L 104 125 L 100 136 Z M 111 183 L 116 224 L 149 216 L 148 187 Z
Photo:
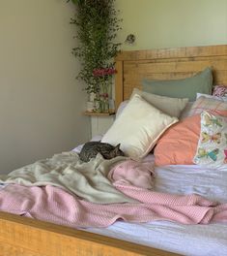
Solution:
M 116 0 L 123 17 L 124 49 L 180 48 L 227 44 L 227 0 Z

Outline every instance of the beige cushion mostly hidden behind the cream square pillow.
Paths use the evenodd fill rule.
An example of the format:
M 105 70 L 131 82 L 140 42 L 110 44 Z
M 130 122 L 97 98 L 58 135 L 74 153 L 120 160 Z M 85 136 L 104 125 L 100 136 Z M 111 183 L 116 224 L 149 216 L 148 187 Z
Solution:
M 139 90 L 134 88 L 131 94 L 131 97 L 134 94 L 139 94 L 146 101 L 151 103 L 156 109 L 169 114 L 170 116 L 179 117 L 181 112 L 184 110 L 186 104 L 188 103 L 188 99 L 178 99 L 178 98 L 169 98 L 165 96 L 159 96 L 156 94 L 152 94 L 146 91 Z

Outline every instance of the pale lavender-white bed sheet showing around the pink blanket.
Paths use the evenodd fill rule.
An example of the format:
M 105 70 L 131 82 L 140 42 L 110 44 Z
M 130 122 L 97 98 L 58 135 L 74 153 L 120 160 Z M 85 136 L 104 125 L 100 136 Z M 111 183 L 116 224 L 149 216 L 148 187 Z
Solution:
M 152 158 L 150 155 L 146 161 Z M 174 194 L 196 193 L 227 203 L 227 169 L 183 165 L 159 167 L 156 168 L 155 190 Z M 142 224 L 117 221 L 108 228 L 87 231 L 183 255 L 227 255 L 227 223 L 183 225 L 170 221 Z

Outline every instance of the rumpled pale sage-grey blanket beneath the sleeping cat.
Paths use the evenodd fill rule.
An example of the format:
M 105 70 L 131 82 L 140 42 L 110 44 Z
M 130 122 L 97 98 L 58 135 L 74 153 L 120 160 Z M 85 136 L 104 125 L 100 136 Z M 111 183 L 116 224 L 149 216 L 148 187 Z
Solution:
M 134 203 L 116 190 L 107 178 L 110 168 L 125 159 L 105 160 L 98 154 L 95 159 L 84 163 L 75 152 L 64 152 L 0 176 L 0 182 L 24 186 L 53 185 L 92 203 Z

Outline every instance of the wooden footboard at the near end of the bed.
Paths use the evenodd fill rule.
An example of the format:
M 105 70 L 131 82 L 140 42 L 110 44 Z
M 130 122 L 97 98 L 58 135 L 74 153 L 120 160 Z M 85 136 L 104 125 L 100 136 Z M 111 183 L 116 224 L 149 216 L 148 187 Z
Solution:
M 177 254 L 0 212 L 0 255 L 165 256 Z

